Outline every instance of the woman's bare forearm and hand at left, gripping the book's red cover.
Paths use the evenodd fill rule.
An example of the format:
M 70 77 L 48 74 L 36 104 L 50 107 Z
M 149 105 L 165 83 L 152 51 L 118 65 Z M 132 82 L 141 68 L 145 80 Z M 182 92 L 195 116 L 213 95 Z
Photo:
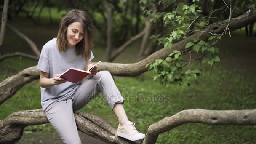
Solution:
M 41 71 L 39 80 L 40 86 L 42 88 L 49 88 L 54 85 L 65 83 L 67 80 L 64 78 L 59 78 L 60 75 L 61 74 L 56 74 L 53 78 L 49 78 L 49 73 Z

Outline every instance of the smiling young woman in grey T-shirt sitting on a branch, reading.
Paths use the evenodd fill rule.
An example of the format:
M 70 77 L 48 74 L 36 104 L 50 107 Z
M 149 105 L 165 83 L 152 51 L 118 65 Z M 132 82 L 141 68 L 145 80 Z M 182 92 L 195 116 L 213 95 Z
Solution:
M 37 65 L 40 69 L 41 104 L 45 114 L 64 143 L 81 144 L 73 111 L 79 110 L 100 92 L 117 116 L 117 136 L 131 141 L 143 139 L 144 134 L 128 120 L 124 99 L 108 71 L 97 68 L 84 83 L 67 82 L 59 75 L 70 67 L 89 69 L 93 66 L 94 26 L 81 10 L 71 10 L 61 19 L 57 38 L 42 48 Z

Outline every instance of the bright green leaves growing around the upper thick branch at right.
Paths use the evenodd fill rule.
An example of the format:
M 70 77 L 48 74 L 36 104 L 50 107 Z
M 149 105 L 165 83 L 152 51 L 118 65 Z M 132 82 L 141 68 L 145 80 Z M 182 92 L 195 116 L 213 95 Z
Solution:
M 146 1 L 147 0 L 141 0 L 141 3 L 146 3 Z M 150 1 L 147 2 L 149 3 Z M 201 15 L 203 11 L 201 7 L 197 5 L 199 0 L 193 0 L 193 2 L 194 3 L 191 5 L 183 4 L 181 8 L 177 5 L 176 10 L 172 12 L 158 13 L 158 17 L 155 16 L 153 19 L 162 18 L 165 27 L 173 27 L 173 30 L 170 34 L 165 35 L 165 37 L 157 35 L 151 38 L 155 38 L 159 44 L 164 44 L 164 47 L 171 48 L 173 43 L 186 39 L 193 31 L 196 31 L 196 27 L 194 26 L 207 26 L 209 20 Z M 213 43 L 216 43 L 219 39 L 220 36 L 217 34 L 212 34 L 209 38 Z M 157 73 L 153 80 L 159 78 L 160 83 L 166 86 L 175 84 L 189 86 L 192 79 L 201 75 L 201 71 L 198 68 L 192 69 L 192 67 L 196 66 L 192 63 L 200 61 L 200 63 L 212 65 L 220 61 L 219 57 L 216 55 L 219 49 L 216 48 L 213 43 L 210 44 L 210 42 L 199 40 L 198 37 L 192 37 L 192 40 L 187 43 L 183 51 L 175 50 L 165 59 L 157 59 L 155 62 L 147 64 L 146 67 L 149 67 L 149 70 L 154 70 Z M 191 60 L 191 55 L 194 53 L 196 53 L 199 58 Z M 190 59 L 185 61 L 182 58 L 184 55 L 189 55 Z

